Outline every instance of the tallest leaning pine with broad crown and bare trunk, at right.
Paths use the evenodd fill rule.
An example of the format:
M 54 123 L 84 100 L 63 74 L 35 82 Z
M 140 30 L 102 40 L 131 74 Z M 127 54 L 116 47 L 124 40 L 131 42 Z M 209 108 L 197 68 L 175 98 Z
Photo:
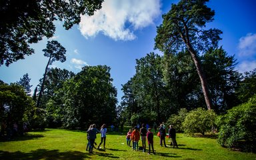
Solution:
M 164 53 L 179 53 L 187 49 L 191 54 L 199 79 L 205 103 L 211 109 L 211 99 L 207 79 L 201 67 L 199 53 L 209 47 L 217 47 L 222 33 L 219 29 L 204 29 L 205 24 L 213 21 L 215 12 L 205 5 L 209 0 L 181 0 L 172 4 L 169 13 L 163 15 L 163 23 L 157 27 L 155 48 Z

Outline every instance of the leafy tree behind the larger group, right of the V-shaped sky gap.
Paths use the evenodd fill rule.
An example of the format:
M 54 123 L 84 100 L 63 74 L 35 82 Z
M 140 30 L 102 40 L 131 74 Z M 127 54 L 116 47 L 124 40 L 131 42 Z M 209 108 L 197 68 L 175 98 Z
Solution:
M 138 104 L 138 111 L 155 111 L 157 120 L 165 120 L 163 110 L 164 83 L 161 69 L 161 57 L 155 53 L 149 53 L 145 57 L 136 60 L 136 74 L 133 77 L 132 91 Z M 165 109 L 164 109 L 165 110 Z

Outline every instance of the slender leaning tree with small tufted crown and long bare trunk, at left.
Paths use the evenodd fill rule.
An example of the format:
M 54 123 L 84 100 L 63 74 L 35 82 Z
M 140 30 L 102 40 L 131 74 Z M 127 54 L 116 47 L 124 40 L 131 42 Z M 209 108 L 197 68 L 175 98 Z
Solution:
M 61 62 L 66 61 L 66 57 L 65 57 L 66 49 L 57 41 L 54 41 L 54 40 L 48 41 L 46 49 L 43 49 L 43 52 L 44 52 L 43 55 L 45 55 L 45 57 L 49 57 L 49 61 L 45 67 L 45 73 L 43 75 L 43 81 L 42 81 L 41 89 L 39 91 L 39 96 L 37 99 L 37 107 L 39 107 L 40 105 L 40 99 L 43 93 L 43 87 L 44 87 L 45 79 L 47 76 L 48 66 L 51 65 L 54 61 L 61 61 Z

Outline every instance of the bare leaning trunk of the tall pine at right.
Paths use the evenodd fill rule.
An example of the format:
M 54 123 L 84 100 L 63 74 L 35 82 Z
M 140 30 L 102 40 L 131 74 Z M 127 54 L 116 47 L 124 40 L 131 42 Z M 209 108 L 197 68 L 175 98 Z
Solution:
M 201 63 L 200 63 L 199 59 L 197 58 L 197 55 L 196 55 L 194 49 L 191 47 L 191 45 L 188 44 L 188 43 L 186 45 L 187 45 L 187 48 L 189 50 L 189 53 L 191 54 L 191 56 L 193 58 L 193 61 L 195 63 L 195 67 L 197 68 L 197 73 L 199 75 L 199 79 L 201 81 L 201 86 L 202 86 L 202 90 L 203 90 L 203 96 L 205 97 L 205 103 L 207 105 L 207 108 L 210 110 L 210 109 L 212 109 L 212 104 L 211 104 L 211 99 L 210 99 L 210 96 L 209 96 L 209 89 L 208 89 L 208 86 L 207 86 L 207 81 L 206 81 L 206 78 L 205 78 L 205 74 L 203 73 Z

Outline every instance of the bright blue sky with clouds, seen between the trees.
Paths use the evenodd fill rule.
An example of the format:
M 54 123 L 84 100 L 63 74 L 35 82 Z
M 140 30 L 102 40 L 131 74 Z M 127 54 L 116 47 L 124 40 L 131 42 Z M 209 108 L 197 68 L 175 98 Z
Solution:
M 93 17 L 83 16 L 79 25 L 66 31 L 62 23 L 55 22 L 55 39 L 67 49 L 67 61 L 54 62 L 59 67 L 78 73 L 85 65 L 111 67 L 113 85 L 121 101 L 121 85 L 135 74 L 135 59 L 145 57 L 153 50 L 157 26 L 162 15 L 177 0 L 105 0 Z M 237 59 L 236 69 L 243 73 L 256 68 L 256 6 L 255 0 L 210 0 L 215 20 L 207 27 L 221 29 L 219 45 Z M 50 40 L 51 40 L 50 39 Z M 31 45 L 35 54 L 5 67 L 0 67 L 0 79 L 5 83 L 19 81 L 29 74 L 32 91 L 43 77 L 47 57 L 43 56 L 47 39 Z M 159 53 L 161 54 L 161 53 Z

